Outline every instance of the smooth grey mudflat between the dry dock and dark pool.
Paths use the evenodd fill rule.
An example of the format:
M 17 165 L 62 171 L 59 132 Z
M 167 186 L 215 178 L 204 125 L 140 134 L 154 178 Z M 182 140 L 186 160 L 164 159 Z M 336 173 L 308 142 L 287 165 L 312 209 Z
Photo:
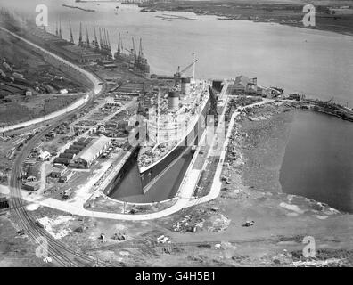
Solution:
M 242 167 L 244 185 L 259 191 L 282 192 L 279 174 L 296 111 L 288 103 L 267 105 L 251 115 L 270 118 L 259 121 L 250 120 L 249 115 L 241 118 L 239 132 L 245 161 Z

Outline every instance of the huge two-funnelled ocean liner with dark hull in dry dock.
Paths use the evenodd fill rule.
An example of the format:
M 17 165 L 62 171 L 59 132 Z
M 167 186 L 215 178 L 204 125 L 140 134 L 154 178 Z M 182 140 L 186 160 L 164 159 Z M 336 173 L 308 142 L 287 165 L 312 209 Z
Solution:
M 198 144 L 205 129 L 213 94 L 203 80 L 181 78 L 180 91 L 168 92 L 168 110 L 160 113 L 160 103 L 147 126 L 147 138 L 142 143 L 137 164 L 144 192 L 186 150 Z M 160 99 L 158 100 L 160 102 Z

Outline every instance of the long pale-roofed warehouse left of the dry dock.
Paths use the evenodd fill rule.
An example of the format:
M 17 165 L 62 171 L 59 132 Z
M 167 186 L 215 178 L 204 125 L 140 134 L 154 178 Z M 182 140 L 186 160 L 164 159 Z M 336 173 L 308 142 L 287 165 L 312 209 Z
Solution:
M 111 139 L 102 135 L 90 142 L 86 148 L 78 153 L 75 159 L 71 160 L 70 167 L 89 168 L 111 145 Z

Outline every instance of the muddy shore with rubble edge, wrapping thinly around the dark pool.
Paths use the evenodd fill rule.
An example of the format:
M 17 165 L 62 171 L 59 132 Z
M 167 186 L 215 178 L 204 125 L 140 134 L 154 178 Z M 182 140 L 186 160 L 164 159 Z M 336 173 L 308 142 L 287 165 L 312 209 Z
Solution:
M 226 191 L 229 188 L 226 184 L 230 184 L 229 186 L 235 186 L 240 191 L 260 191 L 268 195 L 291 195 L 291 193 L 283 191 L 280 183 L 281 169 L 290 139 L 292 123 L 298 112 L 306 109 L 340 118 L 329 111 L 302 108 L 300 102 L 281 102 L 281 105 L 276 107 L 275 104 L 268 104 L 261 106 L 261 109 L 250 110 L 248 114 L 241 115 L 233 130 L 233 141 L 235 141 L 233 149 L 236 149 L 233 152 L 235 152 L 234 156 L 237 159 L 233 161 L 228 159 L 223 170 L 222 178 Z M 314 201 L 305 195 L 292 196 Z M 319 200 L 315 200 L 315 202 L 330 204 Z M 341 213 L 352 214 L 338 208 L 335 209 Z

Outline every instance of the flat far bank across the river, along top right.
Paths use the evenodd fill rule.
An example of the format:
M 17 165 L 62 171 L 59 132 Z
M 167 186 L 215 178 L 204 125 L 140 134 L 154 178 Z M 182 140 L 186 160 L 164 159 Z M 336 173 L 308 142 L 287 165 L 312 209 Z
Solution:
M 328 30 L 344 35 L 353 35 L 353 9 L 335 9 L 337 3 L 314 3 L 316 6 L 316 26 L 314 29 Z M 304 27 L 302 20 L 306 12 L 303 3 L 288 2 L 264 3 L 234 1 L 178 1 L 172 4 L 152 4 L 151 8 L 159 11 L 194 12 L 197 15 L 215 15 L 218 20 L 252 20 L 272 22 L 293 27 Z M 343 11 L 344 10 L 344 11 Z

